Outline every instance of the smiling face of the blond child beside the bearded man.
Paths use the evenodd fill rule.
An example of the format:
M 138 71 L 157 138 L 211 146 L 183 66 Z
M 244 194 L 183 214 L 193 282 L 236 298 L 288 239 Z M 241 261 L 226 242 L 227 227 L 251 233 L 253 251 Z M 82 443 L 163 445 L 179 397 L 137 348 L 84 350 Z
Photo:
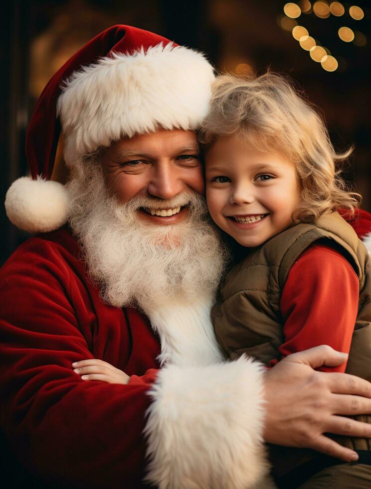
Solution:
M 292 225 L 300 185 L 281 154 L 222 137 L 205 155 L 205 176 L 212 219 L 241 245 L 261 245 Z

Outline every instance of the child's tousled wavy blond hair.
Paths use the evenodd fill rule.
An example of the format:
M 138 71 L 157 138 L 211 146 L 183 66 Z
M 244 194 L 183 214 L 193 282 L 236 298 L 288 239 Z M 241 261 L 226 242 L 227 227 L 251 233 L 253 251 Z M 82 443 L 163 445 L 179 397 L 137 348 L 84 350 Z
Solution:
M 295 222 L 313 222 L 338 209 L 354 216 L 361 196 L 347 190 L 336 169 L 352 148 L 335 152 L 322 118 L 283 76 L 217 77 L 199 139 L 207 151 L 216 139 L 230 135 L 254 149 L 284 154 L 295 165 L 302 188 Z

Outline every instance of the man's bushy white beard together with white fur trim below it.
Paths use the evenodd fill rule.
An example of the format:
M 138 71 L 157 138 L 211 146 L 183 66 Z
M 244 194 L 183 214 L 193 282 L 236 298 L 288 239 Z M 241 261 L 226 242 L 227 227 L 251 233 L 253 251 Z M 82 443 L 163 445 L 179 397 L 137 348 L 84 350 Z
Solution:
M 227 251 L 210 224 L 204 200 L 194 192 L 166 201 L 135 197 L 125 204 L 106 190 L 99 161 L 80 159 L 67 185 L 70 226 L 80 242 L 88 273 L 102 299 L 135 306 L 161 337 L 161 363 L 210 364 L 219 360 L 209 311 Z M 152 225 L 140 207 L 189 205 L 175 225 Z M 178 324 L 177 324 L 178 323 Z

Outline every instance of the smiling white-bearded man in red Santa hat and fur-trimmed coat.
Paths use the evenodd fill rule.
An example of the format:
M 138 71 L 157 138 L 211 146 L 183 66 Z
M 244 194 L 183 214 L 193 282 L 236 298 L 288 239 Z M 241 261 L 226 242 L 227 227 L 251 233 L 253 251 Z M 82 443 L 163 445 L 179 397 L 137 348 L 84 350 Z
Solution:
M 346 461 L 357 455 L 323 433 L 371 437 L 338 416 L 371 411 L 369 383 L 313 370 L 345 361 L 330 348 L 266 373 L 244 357 L 220 362 L 209 308 L 226 256 L 200 197 L 194 134 L 212 80 L 199 53 L 115 26 L 61 68 L 36 107 L 32 176 L 50 177 L 57 110 L 67 193 L 20 179 L 7 213 L 33 232 L 68 218 L 73 234 L 37 235 L 2 269 L 1 423 L 22 463 L 54 485 L 249 488 L 267 470 L 263 437 Z M 94 369 L 83 380 L 72 363 L 88 358 L 129 384 L 98 382 Z

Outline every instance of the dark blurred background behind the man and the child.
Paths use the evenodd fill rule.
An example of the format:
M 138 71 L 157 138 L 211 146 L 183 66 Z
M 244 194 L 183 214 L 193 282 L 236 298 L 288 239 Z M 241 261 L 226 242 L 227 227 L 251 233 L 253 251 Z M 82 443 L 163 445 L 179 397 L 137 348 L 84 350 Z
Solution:
M 355 145 L 345 177 L 371 210 L 369 1 L 18 0 L 5 2 L 2 14 L 2 202 L 11 182 L 27 173 L 24 136 L 44 85 L 90 38 L 122 23 L 202 50 L 218 70 L 270 67 L 293 77 L 322 108 L 335 148 Z M 343 40 L 341 27 L 348 27 L 340 31 Z M 1 264 L 27 234 L 10 225 L 2 204 L 0 220 Z

